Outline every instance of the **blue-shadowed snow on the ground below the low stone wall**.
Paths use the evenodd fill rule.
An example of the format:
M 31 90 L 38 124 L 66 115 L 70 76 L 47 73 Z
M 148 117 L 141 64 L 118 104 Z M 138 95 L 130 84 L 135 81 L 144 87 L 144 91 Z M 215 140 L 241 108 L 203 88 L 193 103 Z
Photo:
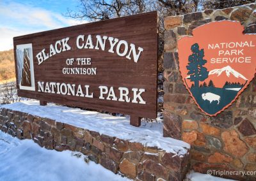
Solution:
M 47 150 L 32 140 L 19 140 L 0 131 L 0 180 L 98 181 L 102 178 L 129 180 L 100 164 L 85 163 L 84 157 L 76 157 L 74 152 Z

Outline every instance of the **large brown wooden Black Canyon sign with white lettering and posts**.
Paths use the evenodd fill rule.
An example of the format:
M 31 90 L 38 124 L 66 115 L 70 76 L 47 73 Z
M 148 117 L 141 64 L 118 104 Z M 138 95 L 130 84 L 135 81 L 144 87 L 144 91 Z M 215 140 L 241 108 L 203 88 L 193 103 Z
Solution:
M 18 95 L 131 115 L 157 115 L 157 12 L 13 38 Z

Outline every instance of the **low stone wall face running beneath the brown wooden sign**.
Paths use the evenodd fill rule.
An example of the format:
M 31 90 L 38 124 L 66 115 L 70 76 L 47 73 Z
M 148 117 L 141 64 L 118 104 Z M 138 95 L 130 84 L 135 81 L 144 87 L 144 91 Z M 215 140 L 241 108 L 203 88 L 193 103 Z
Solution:
M 6 108 L 0 110 L 0 130 L 19 139 L 33 139 L 47 149 L 82 152 L 88 160 L 134 180 L 178 181 L 189 168 L 188 155 L 179 157 L 156 147 Z

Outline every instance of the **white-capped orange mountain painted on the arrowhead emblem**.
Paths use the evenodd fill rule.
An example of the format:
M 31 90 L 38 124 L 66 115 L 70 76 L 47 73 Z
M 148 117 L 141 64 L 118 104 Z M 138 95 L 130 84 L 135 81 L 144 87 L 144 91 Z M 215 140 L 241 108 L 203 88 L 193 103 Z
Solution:
M 204 82 L 209 83 L 210 80 L 212 80 L 216 87 L 223 87 L 226 82 L 243 85 L 248 79 L 230 66 L 225 66 L 209 71 L 208 78 Z

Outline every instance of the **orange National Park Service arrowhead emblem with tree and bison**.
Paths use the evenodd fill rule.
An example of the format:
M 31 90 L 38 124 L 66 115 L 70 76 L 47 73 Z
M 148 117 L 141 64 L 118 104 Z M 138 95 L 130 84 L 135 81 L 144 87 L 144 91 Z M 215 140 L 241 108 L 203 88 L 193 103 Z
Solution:
M 256 34 L 243 31 L 239 22 L 223 20 L 178 40 L 182 80 L 207 115 L 230 106 L 255 76 Z

